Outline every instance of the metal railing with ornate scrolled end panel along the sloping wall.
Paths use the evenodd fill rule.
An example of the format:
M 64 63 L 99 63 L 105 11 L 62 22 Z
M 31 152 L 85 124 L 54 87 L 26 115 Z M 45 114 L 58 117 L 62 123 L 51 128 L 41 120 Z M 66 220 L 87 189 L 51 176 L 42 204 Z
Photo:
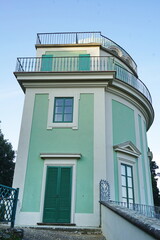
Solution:
M 108 204 L 112 204 L 112 206 L 121 206 L 128 208 L 146 217 L 160 219 L 160 207 L 137 203 L 112 201 L 110 199 L 110 185 L 106 180 L 100 181 L 100 202 L 106 202 Z

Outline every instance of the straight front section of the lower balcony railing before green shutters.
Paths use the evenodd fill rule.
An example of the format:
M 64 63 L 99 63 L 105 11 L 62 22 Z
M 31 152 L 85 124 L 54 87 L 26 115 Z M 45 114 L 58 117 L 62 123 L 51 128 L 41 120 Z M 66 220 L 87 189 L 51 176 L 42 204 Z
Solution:
M 113 57 L 17 58 L 16 72 L 114 71 Z

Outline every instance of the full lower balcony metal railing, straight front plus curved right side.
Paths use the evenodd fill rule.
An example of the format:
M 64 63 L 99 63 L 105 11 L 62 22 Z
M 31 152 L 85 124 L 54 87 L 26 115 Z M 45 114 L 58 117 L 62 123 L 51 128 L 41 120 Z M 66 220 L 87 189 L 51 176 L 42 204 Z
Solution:
M 152 98 L 148 88 L 132 73 L 119 66 L 114 57 L 29 57 L 18 58 L 16 72 L 95 72 L 116 71 L 116 78 L 141 92 L 150 103 Z

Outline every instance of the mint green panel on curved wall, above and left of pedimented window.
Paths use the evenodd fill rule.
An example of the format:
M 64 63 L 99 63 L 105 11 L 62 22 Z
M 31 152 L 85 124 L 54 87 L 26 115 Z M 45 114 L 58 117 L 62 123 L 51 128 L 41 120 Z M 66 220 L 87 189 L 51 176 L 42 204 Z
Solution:
M 136 145 L 134 111 L 128 106 L 112 100 L 112 122 L 113 122 L 113 146 L 126 141 L 132 141 Z M 114 157 L 114 181 L 115 199 L 119 200 L 118 184 L 118 161 L 117 154 Z

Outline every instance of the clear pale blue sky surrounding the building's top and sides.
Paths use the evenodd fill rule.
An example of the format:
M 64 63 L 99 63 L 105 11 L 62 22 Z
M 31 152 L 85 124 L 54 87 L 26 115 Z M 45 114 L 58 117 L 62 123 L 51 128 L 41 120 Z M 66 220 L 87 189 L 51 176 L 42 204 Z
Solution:
M 0 5 L 0 120 L 17 149 L 24 94 L 13 75 L 17 57 L 35 56 L 38 32 L 101 31 L 136 61 L 149 88 L 155 121 L 148 132 L 160 165 L 160 1 L 5 0 Z

